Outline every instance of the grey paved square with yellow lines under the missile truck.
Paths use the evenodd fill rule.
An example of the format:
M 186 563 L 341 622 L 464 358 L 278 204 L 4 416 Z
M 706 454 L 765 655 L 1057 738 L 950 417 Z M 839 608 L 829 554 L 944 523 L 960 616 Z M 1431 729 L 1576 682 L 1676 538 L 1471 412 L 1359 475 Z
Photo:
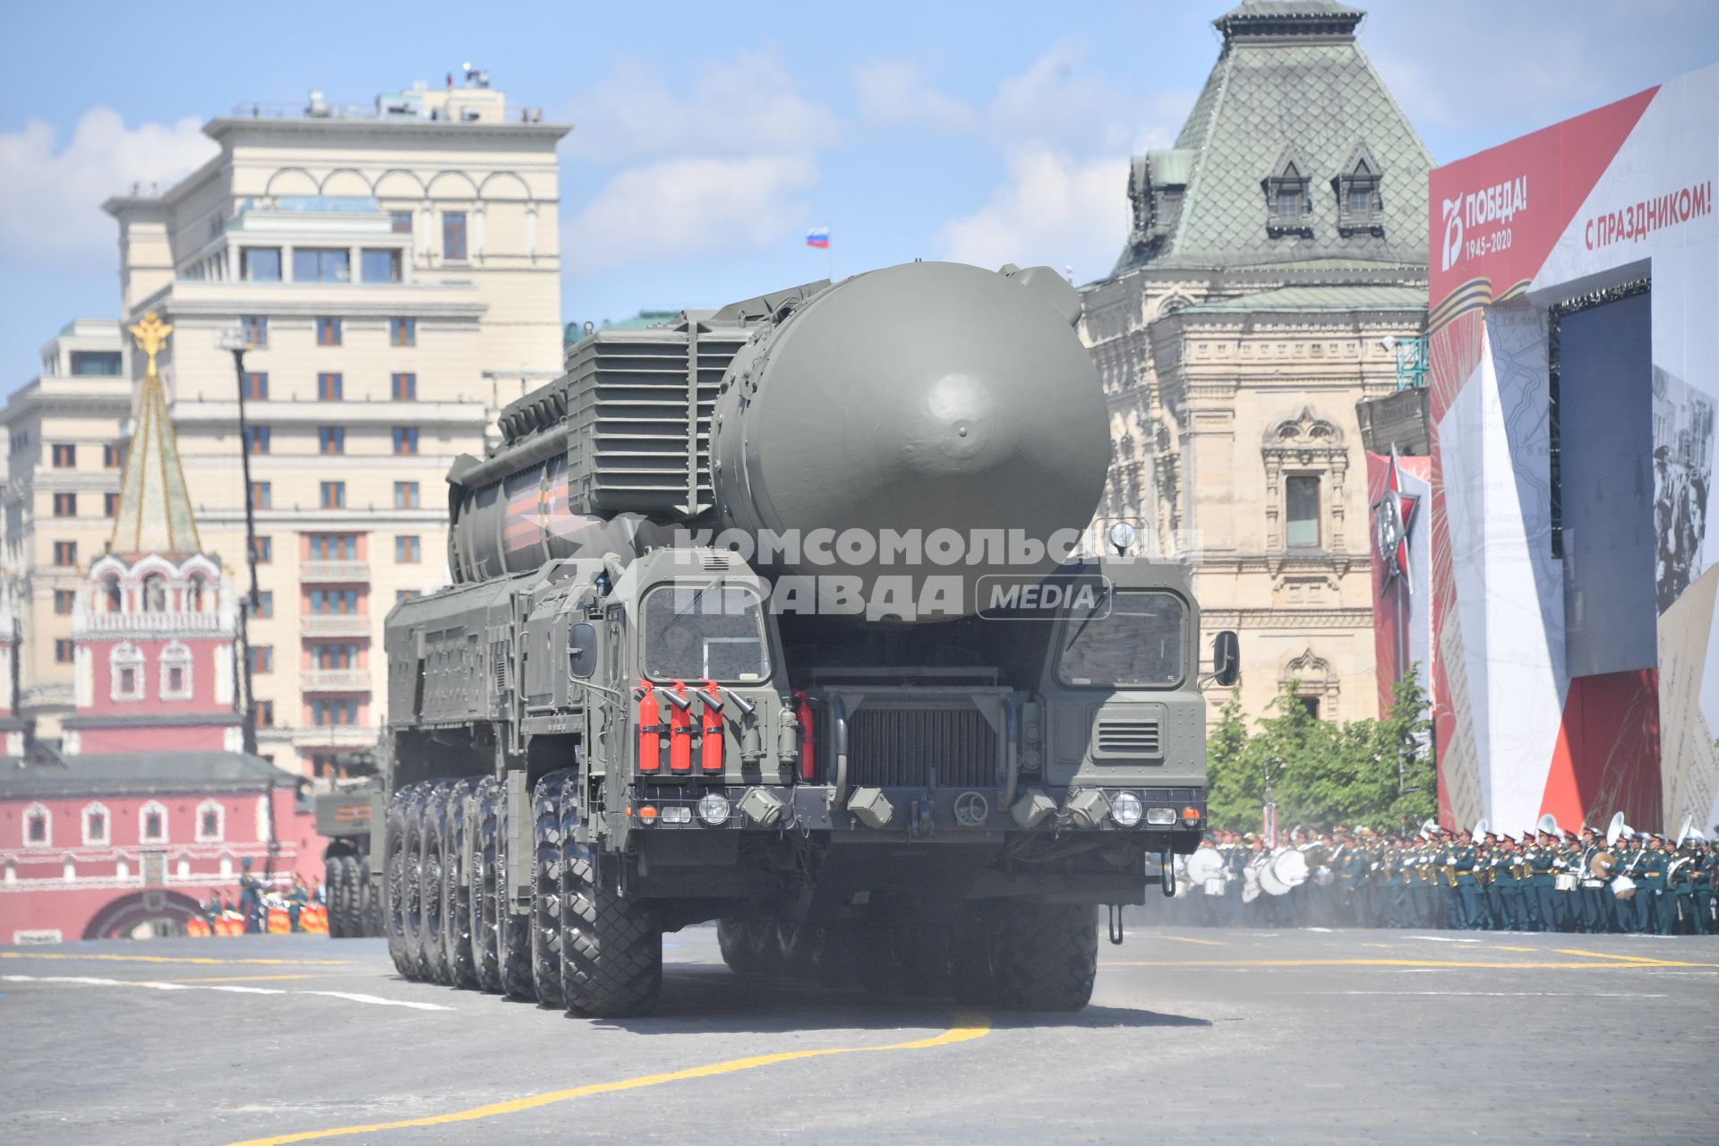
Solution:
M 407 983 L 380 940 L 0 948 L 0 1139 L 1719 1141 L 1719 938 L 1131 931 L 1076 1015 L 669 943 L 634 1021 Z

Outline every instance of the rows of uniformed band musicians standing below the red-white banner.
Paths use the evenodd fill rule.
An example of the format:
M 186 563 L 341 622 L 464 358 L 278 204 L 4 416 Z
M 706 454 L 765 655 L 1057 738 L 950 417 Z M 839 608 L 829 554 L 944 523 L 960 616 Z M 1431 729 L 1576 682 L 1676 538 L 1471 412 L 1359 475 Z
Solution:
M 1580 833 L 1296 828 L 1284 847 L 1219 832 L 1176 863 L 1167 921 L 1198 926 L 1451 928 L 1714 935 L 1719 828 Z M 1300 856 L 1286 856 L 1294 850 Z M 1275 893 L 1274 893 L 1275 892 Z M 1159 914 L 1159 912 L 1155 912 Z

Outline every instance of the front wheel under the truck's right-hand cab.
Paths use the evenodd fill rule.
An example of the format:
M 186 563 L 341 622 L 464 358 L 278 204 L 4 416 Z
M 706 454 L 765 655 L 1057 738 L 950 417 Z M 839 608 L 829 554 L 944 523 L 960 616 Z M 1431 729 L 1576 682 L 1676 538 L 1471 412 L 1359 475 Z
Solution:
M 1002 902 L 988 928 L 997 1007 L 1080 1010 L 1098 978 L 1098 909 Z

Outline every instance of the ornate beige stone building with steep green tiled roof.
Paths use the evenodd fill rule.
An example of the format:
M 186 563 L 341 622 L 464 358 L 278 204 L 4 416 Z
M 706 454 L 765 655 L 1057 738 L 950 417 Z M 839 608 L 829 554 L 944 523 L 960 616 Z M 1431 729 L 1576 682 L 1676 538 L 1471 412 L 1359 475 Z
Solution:
M 1135 225 L 1085 292 L 1112 466 L 1133 519 L 1190 564 L 1241 699 L 1289 682 L 1377 715 L 1372 527 L 1355 404 L 1398 387 L 1427 313 L 1432 158 L 1355 41 L 1363 12 L 1246 0 L 1172 148 L 1135 156 Z M 1212 691 L 1212 711 L 1227 692 Z

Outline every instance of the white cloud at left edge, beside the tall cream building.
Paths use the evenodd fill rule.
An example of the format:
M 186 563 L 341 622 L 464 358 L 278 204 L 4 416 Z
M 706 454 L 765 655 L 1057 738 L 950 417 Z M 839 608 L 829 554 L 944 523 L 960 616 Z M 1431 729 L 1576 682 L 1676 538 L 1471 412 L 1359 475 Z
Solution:
M 117 232 L 101 201 L 132 184 L 165 191 L 220 149 L 194 119 L 125 127 L 119 112 L 105 107 L 86 112 L 60 151 L 57 136 L 40 120 L 0 132 L 0 247 L 7 259 L 112 266 Z

